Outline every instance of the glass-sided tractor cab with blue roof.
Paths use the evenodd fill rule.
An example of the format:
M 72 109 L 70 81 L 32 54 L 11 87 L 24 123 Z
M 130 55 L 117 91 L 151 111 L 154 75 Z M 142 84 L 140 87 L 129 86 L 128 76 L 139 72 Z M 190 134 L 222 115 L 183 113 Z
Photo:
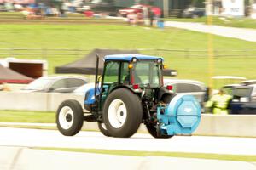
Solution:
M 114 89 L 126 88 L 140 94 L 144 88 L 163 86 L 163 59 L 138 54 L 107 55 L 102 75 L 100 104 Z

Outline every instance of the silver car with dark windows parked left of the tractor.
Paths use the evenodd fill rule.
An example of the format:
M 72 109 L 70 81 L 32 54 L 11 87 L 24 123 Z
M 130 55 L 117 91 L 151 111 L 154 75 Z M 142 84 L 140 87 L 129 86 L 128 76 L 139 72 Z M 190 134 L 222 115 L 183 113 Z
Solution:
M 87 83 L 84 77 L 40 77 L 29 83 L 23 92 L 71 93 L 74 89 Z

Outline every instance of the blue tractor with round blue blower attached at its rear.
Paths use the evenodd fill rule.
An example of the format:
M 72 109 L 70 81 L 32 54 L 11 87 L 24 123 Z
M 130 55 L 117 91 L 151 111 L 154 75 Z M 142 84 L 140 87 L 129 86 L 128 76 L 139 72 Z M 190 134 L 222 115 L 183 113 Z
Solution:
M 96 55 L 97 56 L 97 55 Z M 84 109 L 76 100 L 61 103 L 56 115 L 59 131 L 66 136 L 79 133 L 84 121 L 97 122 L 105 136 L 129 138 L 144 123 L 154 138 L 191 134 L 201 120 L 201 106 L 190 95 L 172 93 L 164 87 L 163 59 L 140 54 L 104 57 L 102 76 L 87 90 Z

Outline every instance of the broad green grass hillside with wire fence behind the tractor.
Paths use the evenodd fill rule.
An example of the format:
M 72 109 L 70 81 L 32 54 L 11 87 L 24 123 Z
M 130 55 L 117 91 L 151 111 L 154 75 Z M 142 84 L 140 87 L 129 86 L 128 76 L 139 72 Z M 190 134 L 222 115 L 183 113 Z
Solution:
M 141 26 L 99 25 L 0 25 L 0 48 L 77 48 L 86 52 L 67 55 L 11 55 L 23 59 L 48 59 L 49 74 L 55 66 L 80 59 L 94 48 L 164 48 L 181 51 L 142 51 L 166 59 L 169 68 L 177 69 L 178 77 L 207 82 L 207 34 L 175 28 L 146 29 Z M 256 42 L 213 36 L 215 50 L 214 75 L 255 78 Z M 183 51 L 188 50 L 188 51 Z M 236 52 L 232 50 L 244 50 Z M 3 50 L 2 50 L 3 51 Z M 66 54 L 66 51 L 60 50 Z M 20 52 L 21 53 L 21 52 Z M 50 52 L 49 52 L 50 53 Z M 1 51 L 0 51 L 1 54 Z M 11 54 L 11 53 L 10 53 Z M 228 57 L 225 57 L 228 55 Z M 9 55 L 0 55 L 9 57 Z M 238 71 L 239 70 L 239 71 Z

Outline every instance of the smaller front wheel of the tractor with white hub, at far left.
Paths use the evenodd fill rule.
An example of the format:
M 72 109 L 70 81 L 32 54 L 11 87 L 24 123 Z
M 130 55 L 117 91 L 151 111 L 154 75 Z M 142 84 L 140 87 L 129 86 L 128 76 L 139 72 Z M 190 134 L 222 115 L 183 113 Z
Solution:
M 84 123 L 84 113 L 79 102 L 73 99 L 63 101 L 57 110 L 56 123 L 65 136 L 79 133 Z

